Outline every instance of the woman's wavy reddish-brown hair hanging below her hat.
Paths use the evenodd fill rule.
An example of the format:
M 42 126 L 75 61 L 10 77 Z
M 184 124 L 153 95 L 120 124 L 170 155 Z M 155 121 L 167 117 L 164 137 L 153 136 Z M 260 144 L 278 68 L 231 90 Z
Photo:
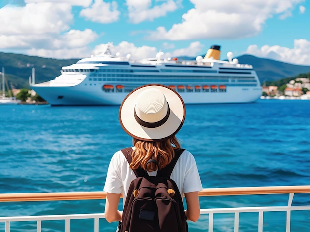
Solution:
M 154 163 L 150 163 L 146 167 L 150 159 L 155 159 L 160 169 L 164 168 L 174 158 L 174 150 L 181 148 L 180 142 L 175 136 L 160 142 L 142 141 L 134 138 L 133 145 L 136 149 L 131 154 L 132 162 L 129 167 L 131 169 L 142 167 L 147 171 L 157 170 Z

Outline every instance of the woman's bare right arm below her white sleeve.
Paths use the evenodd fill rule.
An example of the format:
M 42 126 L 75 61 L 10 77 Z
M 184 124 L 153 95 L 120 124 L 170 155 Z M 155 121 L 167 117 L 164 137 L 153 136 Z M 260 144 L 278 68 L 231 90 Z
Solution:
M 185 211 L 187 220 L 196 222 L 200 216 L 198 192 L 185 193 L 184 195 L 187 205 L 187 210 Z

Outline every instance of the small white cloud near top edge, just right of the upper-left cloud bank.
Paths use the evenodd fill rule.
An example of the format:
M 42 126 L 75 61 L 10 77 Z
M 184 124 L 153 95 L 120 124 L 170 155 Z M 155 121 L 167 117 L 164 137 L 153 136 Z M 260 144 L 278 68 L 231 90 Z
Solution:
M 119 18 L 120 12 L 117 10 L 117 2 L 106 3 L 103 0 L 95 0 L 89 8 L 83 9 L 80 16 L 92 22 L 112 23 Z

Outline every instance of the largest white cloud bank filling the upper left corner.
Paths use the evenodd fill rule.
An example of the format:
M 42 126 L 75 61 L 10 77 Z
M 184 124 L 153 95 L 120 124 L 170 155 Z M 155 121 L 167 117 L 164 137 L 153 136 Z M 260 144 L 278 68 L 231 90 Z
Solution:
M 84 3 L 83 3 L 84 2 Z M 98 38 L 91 29 L 70 29 L 74 5 L 86 0 L 26 0 L 24 6 L 0 9 L 0 48 L 52 58 L 81 57 L 89 54 L 88 44 Z M 72 52 L 68 52 L 72 49 Z

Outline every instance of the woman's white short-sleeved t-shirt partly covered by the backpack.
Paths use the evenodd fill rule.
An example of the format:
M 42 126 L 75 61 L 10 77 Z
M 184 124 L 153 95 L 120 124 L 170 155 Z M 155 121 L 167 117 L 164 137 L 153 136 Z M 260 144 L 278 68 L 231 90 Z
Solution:
M 154 176 L 157 171 L 148 173 Z M 111 159 L 103 190 L 107 193 L 123 193 L 123 199 L 126 199 L 129 185 L 135 178 L 125 155 L 118 151 Z M 176 182 L 182 196 L 184 193 L 202 190 L 194 156 L 186 150 L 179 157 L 170 178 Z

